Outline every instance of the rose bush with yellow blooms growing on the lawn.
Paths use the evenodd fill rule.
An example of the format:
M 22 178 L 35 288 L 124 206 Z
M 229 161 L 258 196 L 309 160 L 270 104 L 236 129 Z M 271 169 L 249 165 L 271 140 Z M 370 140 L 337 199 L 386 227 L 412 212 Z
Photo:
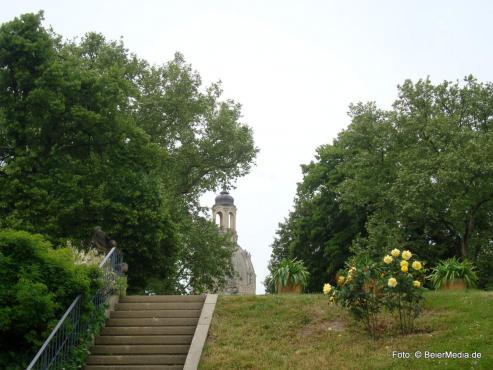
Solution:
M 401 334 L 414 331 L 414 320 L 422 311 L 425 270 L 409 251 L 394 249 L 375 262 L 368 254 L 355 256 L 336 276 L 337 286 L 324 285 L 331 303 L 347 308 L 362 321 L 372 337 L 382 327 L 382 316 L 395 314 Z M 384 311 L 386 309 L 386 311 Z

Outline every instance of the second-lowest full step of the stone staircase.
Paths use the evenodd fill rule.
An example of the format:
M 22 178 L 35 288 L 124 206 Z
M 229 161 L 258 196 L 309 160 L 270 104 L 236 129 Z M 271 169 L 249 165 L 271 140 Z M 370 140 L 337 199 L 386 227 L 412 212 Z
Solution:
M 188 344 L 138 344 L 138 345 L 95 345 L 93 355 L 186 355 Z

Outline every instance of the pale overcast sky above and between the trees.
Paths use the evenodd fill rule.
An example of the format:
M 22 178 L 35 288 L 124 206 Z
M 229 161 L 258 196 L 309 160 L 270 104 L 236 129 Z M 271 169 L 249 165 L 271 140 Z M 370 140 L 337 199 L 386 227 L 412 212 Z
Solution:
M 180 51 L 205 84 L 221 80 L 224 98 L 242 104 L 260 153 L 231 194 L 257 293 L 300 164 L 349 124 L 351 102 L 389 108 L 405 79 L 493 80 L 490 1 L 4 0 L 0 23 L 41 9 L 66 38 L 122 36 L 155 64 Z M 212 206 L 214 194 L 202 201 Z

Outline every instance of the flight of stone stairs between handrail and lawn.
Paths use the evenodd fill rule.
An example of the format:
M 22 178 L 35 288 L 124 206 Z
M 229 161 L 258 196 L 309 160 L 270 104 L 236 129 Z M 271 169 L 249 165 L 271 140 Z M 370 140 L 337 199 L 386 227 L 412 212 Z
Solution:
M 183 369 L 205 298 L 121 298 L 95 340 L 86 370 Z

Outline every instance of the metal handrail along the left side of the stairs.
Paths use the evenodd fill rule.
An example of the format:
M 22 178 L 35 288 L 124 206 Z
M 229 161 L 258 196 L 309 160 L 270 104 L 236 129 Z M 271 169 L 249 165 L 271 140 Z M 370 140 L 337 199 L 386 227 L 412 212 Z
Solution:
M 89 319 L 82 320 L 82 295 L 79 294 L 58 321 L 26 370 L 51 370 L 63 366 L 63 362 L 79 343 L 81 336 L 87 334 L 94 313 L 115 291 L 116 277 L 123 275 L 122 266 L 123 256 L 116 247 L 113 247 L 99 264 L 103 270 L 103 286 L 91 299 L 94 310 Z

